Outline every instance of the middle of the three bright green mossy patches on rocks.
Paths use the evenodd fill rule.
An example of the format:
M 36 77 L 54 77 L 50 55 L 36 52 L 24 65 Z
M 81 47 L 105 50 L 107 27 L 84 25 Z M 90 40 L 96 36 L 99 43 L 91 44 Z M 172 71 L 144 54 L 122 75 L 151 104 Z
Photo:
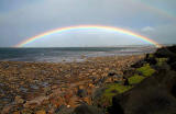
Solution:
M 145 77 L 134 75 L 133 77 L 129 78 L 129 83 L 130 84 L 136 84 L 136 83 L 141 82 L 143 79 L 145 79 Z

